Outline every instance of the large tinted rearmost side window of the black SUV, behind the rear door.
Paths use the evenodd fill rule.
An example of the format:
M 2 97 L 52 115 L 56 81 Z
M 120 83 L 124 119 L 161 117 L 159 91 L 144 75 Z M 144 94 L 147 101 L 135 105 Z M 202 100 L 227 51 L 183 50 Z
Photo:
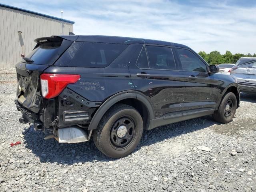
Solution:
M 127 47 L 124 44 L 84 42 L 69 66 L 106 67 Z

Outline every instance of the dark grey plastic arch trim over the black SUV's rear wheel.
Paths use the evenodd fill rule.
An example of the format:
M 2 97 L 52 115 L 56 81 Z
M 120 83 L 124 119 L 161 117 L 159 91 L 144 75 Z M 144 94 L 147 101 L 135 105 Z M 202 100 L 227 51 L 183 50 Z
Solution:
M 136 108 L 142 115 L 145 129 L 148 128 L 150 120 L 155 118 L 154 107 L 150 102 L 150 100 L 144 94 L 138 91 L 132 91 L 132 90 L 123 91 L 123 92 L 114 94 L 113 96 L 111 96 L 105 102 L 102 103 L 102 105 L 98 108 L 98 110 L 92 117 L 88 130 L 97 129 L 100 119 L 104 116 L 104 114 L 108 111 L 108 109 L 116 103 L 129 104 L 130 106 L 133 106 L 134 108 Z M 145 109 L 146 109 L 146 114 L 145 114 Z

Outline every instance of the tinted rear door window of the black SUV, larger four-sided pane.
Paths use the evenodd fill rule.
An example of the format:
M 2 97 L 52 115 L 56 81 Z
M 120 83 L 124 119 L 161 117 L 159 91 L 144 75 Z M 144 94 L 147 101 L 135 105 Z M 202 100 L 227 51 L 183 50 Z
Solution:
M 172 50 L 169 47 L 146 46 L 150 68 L 176 70 Z

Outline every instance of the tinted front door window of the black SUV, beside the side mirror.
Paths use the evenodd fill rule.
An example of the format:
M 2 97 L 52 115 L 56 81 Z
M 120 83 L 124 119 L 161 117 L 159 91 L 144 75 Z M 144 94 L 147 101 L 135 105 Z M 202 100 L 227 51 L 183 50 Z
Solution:
M 186 49 L 177 49 L 184 71 L 207 72 L 206 65 L 194 53 Z

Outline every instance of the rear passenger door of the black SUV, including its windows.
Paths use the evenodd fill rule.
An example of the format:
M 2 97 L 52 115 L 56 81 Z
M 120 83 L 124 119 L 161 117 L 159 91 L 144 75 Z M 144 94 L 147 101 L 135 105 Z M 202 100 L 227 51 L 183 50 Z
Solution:
M 156 118 L 165 114 L 182 116 L 184 82 L 170 47 L 143 45 L 136 65 L 129 66 L 129 70 L 132 87 L 149 98 Z

